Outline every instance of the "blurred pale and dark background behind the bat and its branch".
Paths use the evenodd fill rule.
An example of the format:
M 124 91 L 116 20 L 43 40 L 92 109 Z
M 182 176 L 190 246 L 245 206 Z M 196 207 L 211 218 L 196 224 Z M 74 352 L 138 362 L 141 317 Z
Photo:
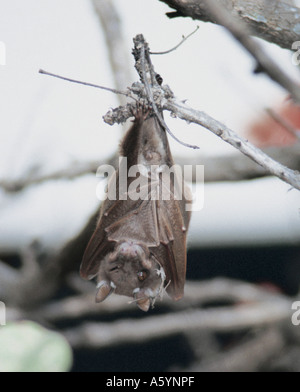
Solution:
M 170 20 L 168 11 L 158 0 L 44 0 L 42 7 L 0 0 L 0 300 L 8 323 L 0 342 L 21 329 L 20 336 L 51 334 L 66 360 L 58 366 L 48 345 L 57 365 L 50 370 L 299 371 L 299 331 L 290 321 L 300 283 L 299 192 L 199 126 L 165 114 L 178 138 L 200 146 L 195 152 L 170 140 L 175 161 L 204 164 L 206 173 L 184 300 L 164 298 L 148 314 L 114 296 L 96 306 L 93 284 L 78 276 L 100 205 L 96 191 L 105 186 L 95 171 L 114 157 L 124 132 L 102 116 L 120 100 L 41 68 L 125 89 L 138 80 L 136 34 L 163 51 L 198 25 L 176 51 L 153 56 L 156 72 L 179 99 L 300 169 L 299 140 L 269 114 L 300 128 L 287 93 L 254 75 L 255 62 L 223 28 Z M 292 52 L 260 42 L 300 82 Z M 25 353 L 42 346 L 28 340 Z M 0 370 L 24 366 L 18 349 L 2 343 Z

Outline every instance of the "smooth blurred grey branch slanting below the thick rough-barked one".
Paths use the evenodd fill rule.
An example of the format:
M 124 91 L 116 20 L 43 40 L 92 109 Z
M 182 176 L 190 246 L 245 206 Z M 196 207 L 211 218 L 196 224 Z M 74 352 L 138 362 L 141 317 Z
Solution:
M 261 71 L 290 93 L 292 99 L 300 104 L 300 86 L 264 50 L 260 42 L 254 40 L 242 21 L 238 21 L 224 5 L 216 0 L 203 0 L 208 13 L 216 22 L 224 26 L 231 35 L 251 54 Z

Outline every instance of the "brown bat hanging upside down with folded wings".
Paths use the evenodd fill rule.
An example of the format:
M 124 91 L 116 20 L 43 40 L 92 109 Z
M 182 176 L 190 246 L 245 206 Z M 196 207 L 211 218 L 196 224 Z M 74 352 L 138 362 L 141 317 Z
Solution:
M 186 207 L 191 197 L 184 181 L 176 181 L 176 174 L 166 180 L 164 174 L 174 162 L 155 114 L 138 107 L 134 116 L 120 149 L 121 157 L 127 158 L 127 186 L 120 189 L 119 168 L 108 183 L 108 193 L 116 187 L 117 200 L 107 198 L 102 204 L 80 273 L 88 280 L 97 277 L 96 302 L 114 292 L 132 297 L 140 309 L 148 311 L 164 290 L 173 300 L 183 296 L 190 222 Z M 141 168 L 135 178 L 129 175 L 134 165 Z M 137 181 L 140 198 L 132 197 Z

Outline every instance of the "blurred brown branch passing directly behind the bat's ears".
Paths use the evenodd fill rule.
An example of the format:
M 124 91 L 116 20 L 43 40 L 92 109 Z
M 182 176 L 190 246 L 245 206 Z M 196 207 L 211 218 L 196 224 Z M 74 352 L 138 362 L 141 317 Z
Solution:
M 92 283 L 80 281 L 76 275 L 71 275 L 68 280 L 72 279 L 72 286 L 76 291 L 80 291 L 80 295 L 70 296 L 67 299 L 56 300 L 47 305 L 43 305 L 36 310 L 39 317 L 45 319 L 46 322 L 58 322 L 65 319 L 73 320 L 78 317 L 106 316 L 110 314 L 118 314 L 124 312 L 132 314 L 136 308 L 128 304 L 125 297 L 111 296 L 101 305 L 94 302 L 94 286 Z M 260 287 L 239 282 L 230 279 L 213 279 L 211 281 L 203 281 L 201 284 L 187 282 L 185 286 L 184 298 L 179 302 L 173 302 L 169 297 L 165 297 L 163 302 L 158 306 L 171 309 L 173 311 L 183 311 L 188 307 L 199 307 L 203 304 L 214 303 L 220 301 L 228 301 L 234 304 L 254 304 L 265 302 L 285 302 L 287 298 L 279 293 L 270 293 Z

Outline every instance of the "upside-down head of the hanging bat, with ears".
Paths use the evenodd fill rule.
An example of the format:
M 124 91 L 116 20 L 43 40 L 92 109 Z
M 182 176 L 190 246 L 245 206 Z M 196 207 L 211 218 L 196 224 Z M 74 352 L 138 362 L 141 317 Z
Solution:
M 101 262 L 96 301 L 104 301 L 111 293 L 132 297 L 147 312 L 161 296 L 166 275 L 147 247 L 133 241 L 117 244 Z

